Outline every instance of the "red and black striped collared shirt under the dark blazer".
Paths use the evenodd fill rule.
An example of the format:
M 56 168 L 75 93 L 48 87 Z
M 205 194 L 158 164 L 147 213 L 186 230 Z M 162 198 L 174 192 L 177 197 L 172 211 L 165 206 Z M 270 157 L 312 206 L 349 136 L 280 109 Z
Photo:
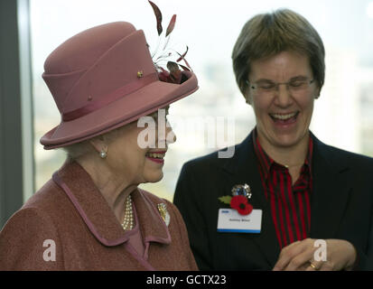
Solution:
M 294 185 L 289 170 L 284 165 L 275 163 L 263 150 L 256 137 L 256 129 L 253 138 L 260 177 L 266 200 L 270 204 L 280 248 L 308 238 L 311 222 L 312 137 L 310 136 L 308 154 L 300 176 Z

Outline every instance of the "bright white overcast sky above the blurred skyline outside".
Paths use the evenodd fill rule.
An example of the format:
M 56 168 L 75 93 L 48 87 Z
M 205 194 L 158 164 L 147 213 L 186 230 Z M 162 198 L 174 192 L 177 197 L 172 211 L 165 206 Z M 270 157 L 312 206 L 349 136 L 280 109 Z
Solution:
M 325 44 L 357 51 L 360 61 L 373 65 L 370 52 L 373 12 L 368 9 L 372 0 L 154 0 L 154 3 L 163 13 L 164 29 L 172 15 L 177 14 L 171 43 L 188 44 L 188 60 L 194 66 L 217 59 L 230 63 L 230 53 L 243 24 L 254 14 L 279 7 L 303 14 Z M 150 45 L 156 43 L 155 17 L 146 0 L 31 0 L 31 11 L 33 63 L 38 73 L 48 54 L 61 42 L 101 23 L 133 23 L 145 31 Z

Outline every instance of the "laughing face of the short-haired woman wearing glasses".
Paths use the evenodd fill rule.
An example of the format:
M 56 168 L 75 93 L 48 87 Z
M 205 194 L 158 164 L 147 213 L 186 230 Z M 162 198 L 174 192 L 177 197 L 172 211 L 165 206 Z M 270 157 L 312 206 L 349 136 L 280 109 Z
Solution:
M 272 91 L 247 89 L 247 103 L 256 115 L 256 129 L 260 141 L 275 147 L 298 144 L 308 135 L 314 98 L 320 89 L 313 79 L 312 69 L 306 56 L 294 51 L 283 51 L 266 59 L 253 61 L 248 76 L 249 82 L 266 88 L 268 83 L 291 83 L 307 85 L 296 89 L 279 85 Z

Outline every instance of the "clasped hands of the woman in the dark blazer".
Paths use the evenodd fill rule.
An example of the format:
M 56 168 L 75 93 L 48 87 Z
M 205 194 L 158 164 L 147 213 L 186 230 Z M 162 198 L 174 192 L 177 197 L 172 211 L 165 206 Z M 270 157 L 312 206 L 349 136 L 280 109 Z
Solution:
M 357 258 L 355 247 L 340 239 L 327 239 L 326 261 L 315 261 L 316 239 L 307 238 L 284 247 L 274 271 L 339 271 L 351 270 Z

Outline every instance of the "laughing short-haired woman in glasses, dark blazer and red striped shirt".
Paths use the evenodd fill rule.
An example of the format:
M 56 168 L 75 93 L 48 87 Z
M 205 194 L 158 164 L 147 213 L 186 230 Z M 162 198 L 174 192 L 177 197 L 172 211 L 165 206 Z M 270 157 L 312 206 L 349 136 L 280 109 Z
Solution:
M 290 10 L 259 14 L 232 59 L 256 127 L 232 158 L 184 164 L 174 196 L 200 269 L 371 269 L 373 160 L 309 130 L 324 83 L 319 34 Z

